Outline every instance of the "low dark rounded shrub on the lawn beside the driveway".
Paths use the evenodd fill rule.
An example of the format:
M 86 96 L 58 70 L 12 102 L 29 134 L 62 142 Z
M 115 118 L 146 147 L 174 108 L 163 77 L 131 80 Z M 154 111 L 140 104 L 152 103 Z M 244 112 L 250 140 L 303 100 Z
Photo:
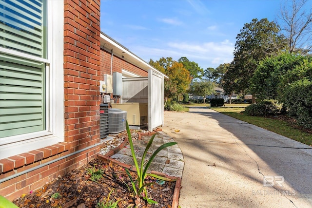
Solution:
M 245 108 L 244 113 L 252 116 L 268 116 L 278 112 L 276 105 L 271 100 L 263 100 Z

